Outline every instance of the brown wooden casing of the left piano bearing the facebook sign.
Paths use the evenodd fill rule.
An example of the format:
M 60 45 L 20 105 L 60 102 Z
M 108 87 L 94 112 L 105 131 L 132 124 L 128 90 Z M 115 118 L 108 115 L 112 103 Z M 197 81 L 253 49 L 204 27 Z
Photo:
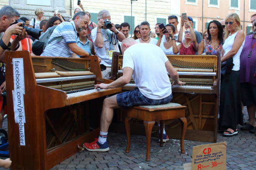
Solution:
M 20 146 L 19 127 L 14 120 L 13 108 L 13 58 L 23 58 L 25 95 L 24 105 L 26 112 L 25 140 L 26 145 Z M 66 143 L 54 148 L 46 148 L 46 110 L 73 105 L 98 97 L 111 95 L 121 91 L 121 88 L 108 89 L 102 92 L 94 92 L 91 95 L 83 95 L 67 99 L 64 91 L 52 89 L 36 84 L 35 71 L 33 69 L 32 57 L 28 51 L 6 52 L 6 86 L 8 107 L 8 135 L 10 145 L 10 159 L 13 161 L 12 170 L 48 170 L 61 161 L 77 153 L 77 145 L 84 142 L 92 142 L 99 134 L 99 128 L 82 134 Z M 44 57 L 37 57 L 44 58 Z M 53 58 L 53 57 L 49 57 Z M 61 59 L 64 57 L 55 57 Z M 67 59 L 67 58 L 65 58 Z M 97 56 L 89 56 L 90 71 L 97 77 L 97 83 L 110 83 L 112 80 L 101 78 L 100 65 Z M 69 58 L 68 60 L 85 60 L 83 58 Z M 104 98 L 103 98 L 104 99 Z M 102 100 L 101 100 L 102 102 Z M 102 103 L 99 103 L 102 105 Z M 97 109 L 95 109 L 97 110 Z M 96 114 L 95 114 L 96 115 Z M 97 119 L 99 120 L 99 119 Z M 99 122 L 97 122 L 99 124 Z M 98 126 L 99 127 L 99 126 Z

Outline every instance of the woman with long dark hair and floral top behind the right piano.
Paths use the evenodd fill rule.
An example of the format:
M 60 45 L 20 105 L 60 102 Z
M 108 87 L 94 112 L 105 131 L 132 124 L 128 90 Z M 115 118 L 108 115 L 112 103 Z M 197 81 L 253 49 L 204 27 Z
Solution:
M 207 38 L 202 40 L 198 47 L 198 54 L 206 55 L 220 55 L 223 45 L 223 29 L 219 21 L 212 20 L 207 28 L 207 32 L 204 35 L 207 35 Z

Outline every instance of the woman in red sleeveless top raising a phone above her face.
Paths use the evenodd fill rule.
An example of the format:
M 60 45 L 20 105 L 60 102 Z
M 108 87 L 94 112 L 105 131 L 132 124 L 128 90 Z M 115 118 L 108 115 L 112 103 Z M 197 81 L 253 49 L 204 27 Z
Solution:
M 179 55 L 195 55 L 198 49 L 197 38 L 189 21 L 182 20 L 182 25 L 186 24 L 189 28 L 185 31 L 184 42 L 181 42 Z

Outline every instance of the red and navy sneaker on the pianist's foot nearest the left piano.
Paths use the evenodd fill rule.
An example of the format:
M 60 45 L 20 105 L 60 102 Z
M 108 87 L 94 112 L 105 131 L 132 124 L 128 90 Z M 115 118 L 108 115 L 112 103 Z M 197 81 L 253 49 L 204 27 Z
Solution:
M 95 139 L 95 141 L 93 141 L 92 143 L 84 143 L 83 147 L 86 150 L 94 151 L 94 152 L 107 152 L 107 151 L 109 151 L 108 142 L 106 141 L 105 143 L 100 144 L 98 142 L 98 138 Z

